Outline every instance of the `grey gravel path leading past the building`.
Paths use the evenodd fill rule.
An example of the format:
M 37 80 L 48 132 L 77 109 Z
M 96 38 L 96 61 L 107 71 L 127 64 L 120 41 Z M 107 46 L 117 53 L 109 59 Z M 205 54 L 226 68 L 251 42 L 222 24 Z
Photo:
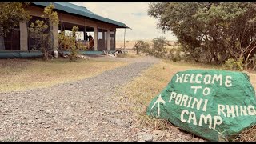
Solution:
M 0 94 L 0 141 L 137 141 L 132 115 L 110 97 L 158 60 L 133 62 L 78 82 Z

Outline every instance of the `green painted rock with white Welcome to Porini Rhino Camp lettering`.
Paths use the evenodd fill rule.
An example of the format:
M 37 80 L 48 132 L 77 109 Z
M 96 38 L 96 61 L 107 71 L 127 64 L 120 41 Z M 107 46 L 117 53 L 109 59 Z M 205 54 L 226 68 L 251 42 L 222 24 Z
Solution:
M 256 124 L 256 97 L 247 74 L 224 70 L 186 70 L 147 108 L 182 130 L 219 141 Z

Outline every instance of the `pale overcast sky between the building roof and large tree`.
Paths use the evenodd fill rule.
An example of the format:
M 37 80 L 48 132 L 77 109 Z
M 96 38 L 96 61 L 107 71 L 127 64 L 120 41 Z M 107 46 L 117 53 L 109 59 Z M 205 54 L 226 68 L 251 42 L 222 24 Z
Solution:
M 126 40 L 151 40 L 159 36 L 175 40 L 171 32 L 163 34 L 157 29 L 157 19 L 147 15 L 148 2 L 72 2 L 85 6 L 94 14 L 125 23 L 132 30 L 126 29 Z M 123 40 L 124 29 L 117 29 L 116 39 Z

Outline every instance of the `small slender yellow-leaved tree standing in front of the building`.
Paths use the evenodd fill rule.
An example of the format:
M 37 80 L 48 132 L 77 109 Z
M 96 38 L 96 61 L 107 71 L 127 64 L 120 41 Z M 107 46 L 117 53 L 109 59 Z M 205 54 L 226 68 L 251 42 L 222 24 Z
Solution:
M 39 46 L 42 50 L 43 59 L 48 60 L 49 48 L 53 49 L 53 26 L 58 25 L 58 14 L 54 11 L 54 5 L 50 3 L 44 9 L 44 14 L 41 16 L 44 21 L 37 20 L 31 23 L 29 30 L 29 37 L 36 42 L 34 47 Z M 50 32 L 48 31 L 50 29 Z

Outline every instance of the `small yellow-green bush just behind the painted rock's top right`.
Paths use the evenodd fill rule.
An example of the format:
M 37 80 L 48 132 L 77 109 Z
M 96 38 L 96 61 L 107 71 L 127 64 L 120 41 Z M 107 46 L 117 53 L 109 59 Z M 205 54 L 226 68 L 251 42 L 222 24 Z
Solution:
M 243 70 L 242 61 L 243 61 L 242 58 L 238 59 L 238 61 L 236 61 L 234 58 L 229 58 L 225 62 L 223 67 L 226 70 Z

